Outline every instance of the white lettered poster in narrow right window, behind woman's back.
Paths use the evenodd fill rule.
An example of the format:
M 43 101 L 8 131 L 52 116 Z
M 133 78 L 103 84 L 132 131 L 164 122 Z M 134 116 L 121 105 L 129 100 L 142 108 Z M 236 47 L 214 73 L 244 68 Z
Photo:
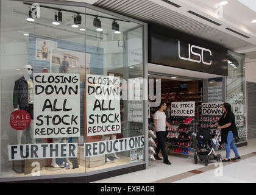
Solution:
M 233 113 L 236 127 L 244 126 L 244 94 L 233 94 Z

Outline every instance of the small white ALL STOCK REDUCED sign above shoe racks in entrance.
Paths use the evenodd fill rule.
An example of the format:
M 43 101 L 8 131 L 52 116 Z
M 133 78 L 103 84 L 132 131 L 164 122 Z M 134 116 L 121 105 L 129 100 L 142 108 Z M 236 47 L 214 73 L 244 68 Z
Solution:
M 194 116 L 194 102 L 171 102 L 171 116 Z

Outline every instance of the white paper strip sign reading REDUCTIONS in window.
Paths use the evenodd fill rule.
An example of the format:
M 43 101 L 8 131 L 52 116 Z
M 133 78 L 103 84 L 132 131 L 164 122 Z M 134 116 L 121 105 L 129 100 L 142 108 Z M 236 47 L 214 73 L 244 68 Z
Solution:
M 85 143 L 84 156 L 93 157 L 113 152 L 130 151 L 144 147 L 144 137 L 130 137 L 117 140 Z

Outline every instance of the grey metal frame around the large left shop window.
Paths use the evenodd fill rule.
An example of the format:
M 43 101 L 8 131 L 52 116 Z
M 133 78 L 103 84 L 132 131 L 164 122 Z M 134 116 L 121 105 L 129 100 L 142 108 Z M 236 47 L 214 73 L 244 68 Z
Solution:
M 30 2 L 30 3 L 41 3 L 41 4 L 53 4 L 53 5 L 70 5 L 74 7 L 84 7 L 85 9 L 91 9 L 95 10 L 101 13 L 105 13 L 108 15 L 112 15 L 115 17 L 118 17 L 120 19 L 125 19 L 128 21 L 131 21 L 133 23 L 140 24 L 143 26 L 143 77 L 145 79 L 148 79 L 148 24 L 144 23 L 142 21 L 138 21 L 137 19 L 129 18 L 127 16 L 120 15 L 115 12 L 110 12 L 108 10 L 101 9 L 99 7 L 95 7 L 94 5 L 87 4 L 85 2 L 67 2 L 67 1 L 54 1 L 54 0 L 25 0 L 25 1 L 20 1 L 20 0 L 6 0 L 6 1 L 19 1 L 19 2 Z M 0 3 L 1 6 L 1 3 Z M 1 14 L 0 14 L 1 16 Z M 1 21 L 1 18 L 0 18 Z M 1 35 L 0 35 L 1 37 Z M 1 59 L 0 59 L 1 60 Z M 1 62 L 1 61 L 0 61 Z M 0 80 L 2 79 L 1 74 L 0 74 Z M 0 85 L 0 90 L 1 90 L 1 85 Z M 1 99 L 0 99 L 1 103 Z M 113 168 L 107 168 L 107 169 L 100 169 L 97 171 L 90 171 L 90 172 L 83 172 L 79 174 L 58 174 L 58 175 L 49 175 L 49 176 L 40 176 L 40 177 L 16 177 L 16 178 L 2 178 L 0 179 L 1 182 L 18 182 L 18 181 L 24 181 L 24 180 L 40 180 L 40 179 L 49 179 L 49 178 L 63 178 L 63 177 L 79 177 L 79 176 L 91 176 L 94 174 L 104 174 L 104 172 L 108 171 L 116 171 L 118 169 L 123 169 L 123 168 L 130 168 L 133 166 L 138 166 L 138 165 L 146 165 L 146 169 L 148 169 L 148 101 L 144 101 L 144 107 L 143 107 L 143 112 L 144 112 L 144 161 L 140 161 L 137 163 L 130 163 L 127 165 L 121 165 L 118 167 L 113 167 Z M 0 104 L 1 108 L 1 104 Z M 1 120 L 1 118 L 0 118 Z M 0 121 L 0 126 L 1 126 L 1 121 Z M 0 169 L 1 172 L 1 169 Z

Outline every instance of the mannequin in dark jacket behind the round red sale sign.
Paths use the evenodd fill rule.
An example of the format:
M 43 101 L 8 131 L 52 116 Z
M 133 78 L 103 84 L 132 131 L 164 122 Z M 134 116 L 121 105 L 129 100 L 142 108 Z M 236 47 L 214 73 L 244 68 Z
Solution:
M 13 108 L 15 110 L 26 110 L 30 114 L 31 122 L 30 126 L 26 130 L 30 131 L 32 143 L 34 140 L 34 102 L 33 102 L 33 80 L 32 66 L 25 65 L 23 67 L 23 77 L 15 81 L 13 90 Z M 19 107 L 19 108 L 18 108 Z M 17 131 L 18 144 L 21 144 L 21 138 L 23 137 L 24 130 Z

